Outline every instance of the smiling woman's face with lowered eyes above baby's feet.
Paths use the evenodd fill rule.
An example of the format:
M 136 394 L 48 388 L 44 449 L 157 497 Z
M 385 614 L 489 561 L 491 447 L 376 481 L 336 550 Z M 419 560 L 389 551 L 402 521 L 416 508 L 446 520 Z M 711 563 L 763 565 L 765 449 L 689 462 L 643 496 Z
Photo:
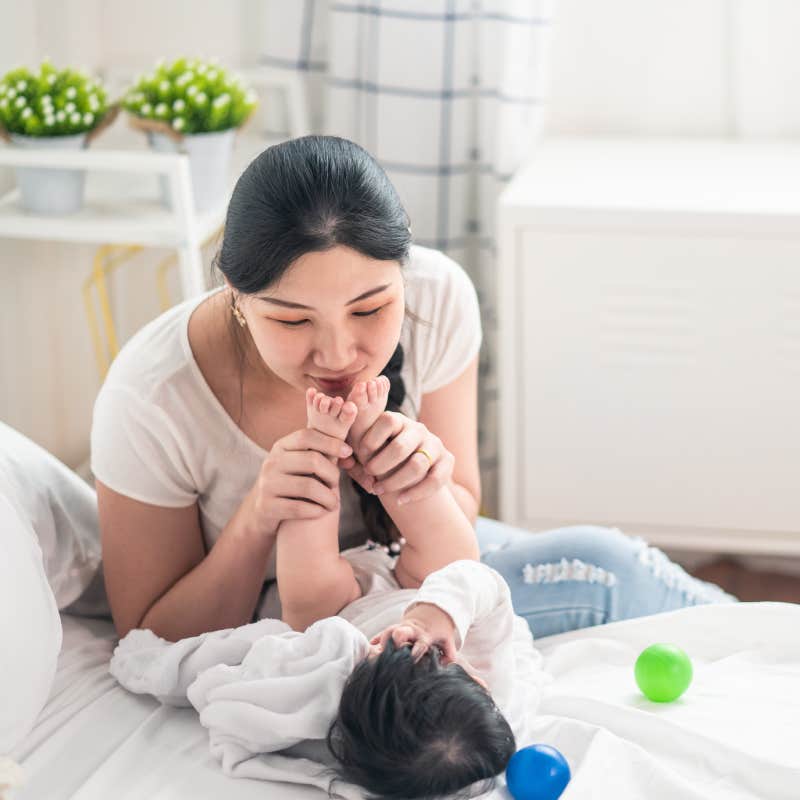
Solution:
M 277 284 L 240 295 L 238 303 L 275 378 L 300 392 L 315 386 L 346 397 L 356 381 L 376 377 L 392 357 L 405 291 L 398 262 L 336 246 L 306 253 Z

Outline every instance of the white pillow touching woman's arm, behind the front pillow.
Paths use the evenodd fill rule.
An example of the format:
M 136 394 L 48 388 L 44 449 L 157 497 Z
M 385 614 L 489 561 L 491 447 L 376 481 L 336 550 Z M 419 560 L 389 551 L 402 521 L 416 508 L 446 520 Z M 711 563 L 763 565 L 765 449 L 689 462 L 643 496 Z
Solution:
M 58 608 L 65 608 L 100 566 L 94 490 L 43 447 L 0 422 L 2 496 L 33 528 Z

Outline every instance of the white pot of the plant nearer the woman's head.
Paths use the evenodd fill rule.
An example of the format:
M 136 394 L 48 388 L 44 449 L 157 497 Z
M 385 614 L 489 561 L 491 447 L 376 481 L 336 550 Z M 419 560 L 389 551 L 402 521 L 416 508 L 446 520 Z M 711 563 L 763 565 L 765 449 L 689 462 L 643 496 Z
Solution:
M 148 131 L 150 146 L 162 153 L 186 153 L 192 176 L 192 192 L 197 211 L 207 211 L 224 202 L 230 180 L 231 155 L 236 128 L 214 133 L 187 133 L 182 142 L 176 142 L 163 133 Z M 159 178 L 161 201 L 172 208 L 169 183 L 165 176 Z

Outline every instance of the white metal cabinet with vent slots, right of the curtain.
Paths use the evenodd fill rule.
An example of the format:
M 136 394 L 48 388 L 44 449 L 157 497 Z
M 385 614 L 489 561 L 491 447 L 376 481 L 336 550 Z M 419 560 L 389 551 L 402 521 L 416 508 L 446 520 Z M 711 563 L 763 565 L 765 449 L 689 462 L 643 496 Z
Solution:
M 800 555 L 800 146 L 546 141 L 498 213 L 501 519 Z

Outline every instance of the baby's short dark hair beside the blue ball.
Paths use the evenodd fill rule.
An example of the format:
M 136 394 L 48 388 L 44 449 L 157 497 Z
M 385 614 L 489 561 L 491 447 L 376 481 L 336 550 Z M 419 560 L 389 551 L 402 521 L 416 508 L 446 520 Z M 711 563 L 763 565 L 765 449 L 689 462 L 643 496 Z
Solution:
M 460 665 L 443 666 L 435 648 L 414 663 L 391 639 L 347 679 L 326 741 L 337 777 L 384 800 L 473 797 L 516 749 L 491 695 Z

